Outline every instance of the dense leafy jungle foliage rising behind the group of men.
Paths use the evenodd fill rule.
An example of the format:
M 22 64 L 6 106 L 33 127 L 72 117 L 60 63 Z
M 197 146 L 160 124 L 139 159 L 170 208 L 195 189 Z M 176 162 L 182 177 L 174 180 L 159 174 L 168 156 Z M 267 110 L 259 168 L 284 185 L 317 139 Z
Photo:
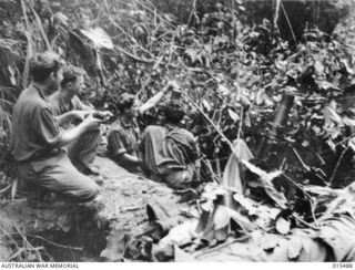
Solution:
M 282 167 L 300 183 L 345 185 L 355 150 L 351 3 L 0 0 L 1 188 L 14 177 L 11 110 L 29 83 L 30 56 L 43 50 L 84 68 L 83 100 L 98 108 L 114 111 L 124 91 L 145 101 L 178 80 L 206 179 L 220 178 L 227 141 L 239 137 L 261 167 Z M 284 94 L 294 100 L 275 126 Z M 158 107 L 141 125 L 160 122 Z

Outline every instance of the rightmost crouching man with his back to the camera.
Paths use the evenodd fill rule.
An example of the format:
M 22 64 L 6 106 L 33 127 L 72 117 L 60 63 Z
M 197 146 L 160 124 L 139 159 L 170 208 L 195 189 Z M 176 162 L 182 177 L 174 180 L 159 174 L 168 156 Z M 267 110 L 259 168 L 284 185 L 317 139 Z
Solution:
M 153 180 L 175 189 L 200 181 L 200 152 L 192 133 L 179 127 L 184 111 L 179 104 L 164 107 L 165 126 L 148 126 L 142 134 L 143 164 Z

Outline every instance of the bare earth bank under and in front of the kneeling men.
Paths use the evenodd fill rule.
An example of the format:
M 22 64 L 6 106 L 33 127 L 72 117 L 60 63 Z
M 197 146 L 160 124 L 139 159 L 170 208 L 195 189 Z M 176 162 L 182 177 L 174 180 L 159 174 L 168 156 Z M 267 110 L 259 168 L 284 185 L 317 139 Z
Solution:
M 21 245 L 16 247 L 11 238 L 22 238 L 22 242 L 32 239 L 33 243 L 33 239 L 41 240 L 41 237 L 59 246 L 83 249 L 68 252 L 62 247 L 41 241 L 49 243 L 45 248 L 55 261 L 89 260 L 88 256 L 98 261 L 110 231 L 135 236 L 146 229 L 148 204 L 159 202 L 179 219 L 183 205 L 169 187 L 130 174 L 108 158 L 97 157 L 93 166 L 103 177 L 100 195 L 93 202 L 47 210 L 30 208 L 24 199 L 1 205 L 1 261 L 8 261 L 16 249 L 21 248 Z

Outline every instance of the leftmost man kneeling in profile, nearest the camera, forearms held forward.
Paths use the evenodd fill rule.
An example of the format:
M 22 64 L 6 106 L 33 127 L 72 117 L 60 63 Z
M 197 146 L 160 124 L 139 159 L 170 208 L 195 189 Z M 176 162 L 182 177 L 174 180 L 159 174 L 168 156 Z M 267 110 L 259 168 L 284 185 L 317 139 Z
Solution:
M 63 64 L 53 52 L 31 59 L 32 82 L 13 111 L 11 153 L 18 163 L 18 177 L 29 190 L 44 188 L 73 201 L 88 201 L 98 195 L 99 187 L 73 166 L 64 146 L 81 134 L 98 129 L 100 121 L 89 115 L 77 127 L 60 132 L 48 97 L 63 79 Z M 73 112 L 68 114 L 78 117 Z

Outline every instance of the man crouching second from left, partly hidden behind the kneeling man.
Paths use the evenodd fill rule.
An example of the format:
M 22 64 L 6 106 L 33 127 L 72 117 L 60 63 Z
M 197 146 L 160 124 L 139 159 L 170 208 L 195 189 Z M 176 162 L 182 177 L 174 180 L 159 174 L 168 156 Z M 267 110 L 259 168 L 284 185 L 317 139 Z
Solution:
M 98 114 L 102 118 L 113 116 L 111 112 L 95 111 L 80 101 L 78 95 L 85 86 L 84 75 L 85 71 L 80 68 L 74 65 L 64 66 L 61 89 L 49 97 L 53 113 L 60 122 L 60 126 L 64 129 L 73 128 L 78 122 L 81 122 L 92 113 Z M 70 112 L 80 116 L 77 123 L 74 118 L 68 120 L 68 117 L 65 117 L 65 115 L 70 115 Z M 68 145 L 68 155 L 81 173 L 87 175 L 94 173 L 92 168 L 90 168 L 90 164 L 95 158 L 100 141 L 101 134 L 100 128 L 98 128 L 83 133 Z

